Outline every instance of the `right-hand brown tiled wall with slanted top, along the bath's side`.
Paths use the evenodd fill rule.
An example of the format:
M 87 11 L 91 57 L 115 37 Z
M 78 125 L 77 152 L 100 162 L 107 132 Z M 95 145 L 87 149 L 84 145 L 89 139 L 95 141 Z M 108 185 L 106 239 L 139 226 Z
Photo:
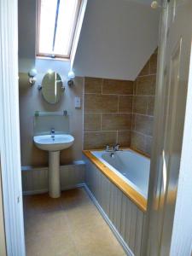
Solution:
M 134 83 L 131 148 L 151 153 L 157 51 L 150 57 Z

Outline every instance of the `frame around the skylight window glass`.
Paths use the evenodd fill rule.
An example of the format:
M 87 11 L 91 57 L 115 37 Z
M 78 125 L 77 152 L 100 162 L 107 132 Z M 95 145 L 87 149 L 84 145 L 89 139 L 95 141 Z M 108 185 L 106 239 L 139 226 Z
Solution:
M 42 52 L 39 51 L 41 1 L 42 0 L 38 0 L 38 4 L 37 4 L 36 57 L 38 57 L 38 58 L 53 59 L 53 60 L 54 59 L 70 60 L 70 57 L 71 57 L 71 54 L 72 54 L 72 50 L 73 50 L 73 44 L 74 44 L 74 40 L 75 40 L 76 31 L 77 31 L 77 28 L 78 28 L 78 25 L 79 25 L 79 15 L 80 15 L 80 11 L 81 11 L 81 6 L 83 4 L 83 0 L 78 0 L 78 6 L 77 6 L 77 9 L 76 9 L 75 19 L 74 19 L 74 22 L 73 22 L 73 32 L 72 32 L 72 37 L 71 37 L 71 41 L 70 41 L 70 44 L 69 44 L 67 55 L 57 55 L 57 54 L 56 55 L 52 55 L 50 53 L 42 53 Z

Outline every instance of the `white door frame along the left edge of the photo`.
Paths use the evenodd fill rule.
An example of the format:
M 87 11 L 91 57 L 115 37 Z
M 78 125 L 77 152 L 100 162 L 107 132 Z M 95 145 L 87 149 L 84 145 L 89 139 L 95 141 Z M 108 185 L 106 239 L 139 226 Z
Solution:
M 0 151 L 8 256 L 25 256 L 20 172 L 17 0 L 0 0 Z

